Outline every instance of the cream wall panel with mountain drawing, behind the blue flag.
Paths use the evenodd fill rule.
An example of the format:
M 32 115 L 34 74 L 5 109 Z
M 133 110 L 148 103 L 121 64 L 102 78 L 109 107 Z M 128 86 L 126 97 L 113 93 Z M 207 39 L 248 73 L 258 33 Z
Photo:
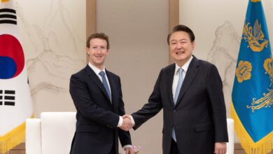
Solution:
M 273 43 L 273 1 L 262 1 L 269 39 Z M 227 115 L 248 0 L 180 0 L 179 23 L 195 33 L 195 51 L 200 59 L 216 64 L 224 84 Z M 235 142 L 238 142 L 237 138 Z

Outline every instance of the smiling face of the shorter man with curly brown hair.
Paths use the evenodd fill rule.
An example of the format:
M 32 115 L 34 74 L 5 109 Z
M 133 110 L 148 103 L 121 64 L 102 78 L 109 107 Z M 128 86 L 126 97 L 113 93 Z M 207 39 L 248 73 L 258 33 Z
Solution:
M 86 49 L 91 64 L 99 69 L 104 68 L 104 61 L 108 55 L 107 42 L 101 38 L 92 38 L 90 48 Z

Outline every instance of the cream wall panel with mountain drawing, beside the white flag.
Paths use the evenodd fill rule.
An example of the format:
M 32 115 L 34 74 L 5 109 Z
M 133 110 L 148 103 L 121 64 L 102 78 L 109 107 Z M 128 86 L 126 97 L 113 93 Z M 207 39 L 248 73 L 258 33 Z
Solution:
M 75 111 L 69 78 L 85 65 L 85 1 L 15 0 L 34 117 Z

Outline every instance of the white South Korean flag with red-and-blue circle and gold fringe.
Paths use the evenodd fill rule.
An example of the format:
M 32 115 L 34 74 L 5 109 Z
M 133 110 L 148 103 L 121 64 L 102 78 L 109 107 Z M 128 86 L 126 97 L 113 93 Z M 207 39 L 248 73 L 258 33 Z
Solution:
M 0 2 L 0 153 L 25 141 L 33 117 L 27 66 L 12 0 Z

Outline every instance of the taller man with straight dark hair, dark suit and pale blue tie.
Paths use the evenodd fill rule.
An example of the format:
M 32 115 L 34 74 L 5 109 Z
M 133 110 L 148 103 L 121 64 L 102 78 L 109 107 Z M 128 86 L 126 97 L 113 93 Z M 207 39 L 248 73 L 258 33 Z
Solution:
M 163 109 L 164 154 L 225 153 L 228 130 L 216 66 L 192 55 L 195 35 L 184 25 L 174 27 L 167 42 L 175 64 L 160 71 L 148 103 L 132 113 L 134 129 Z

